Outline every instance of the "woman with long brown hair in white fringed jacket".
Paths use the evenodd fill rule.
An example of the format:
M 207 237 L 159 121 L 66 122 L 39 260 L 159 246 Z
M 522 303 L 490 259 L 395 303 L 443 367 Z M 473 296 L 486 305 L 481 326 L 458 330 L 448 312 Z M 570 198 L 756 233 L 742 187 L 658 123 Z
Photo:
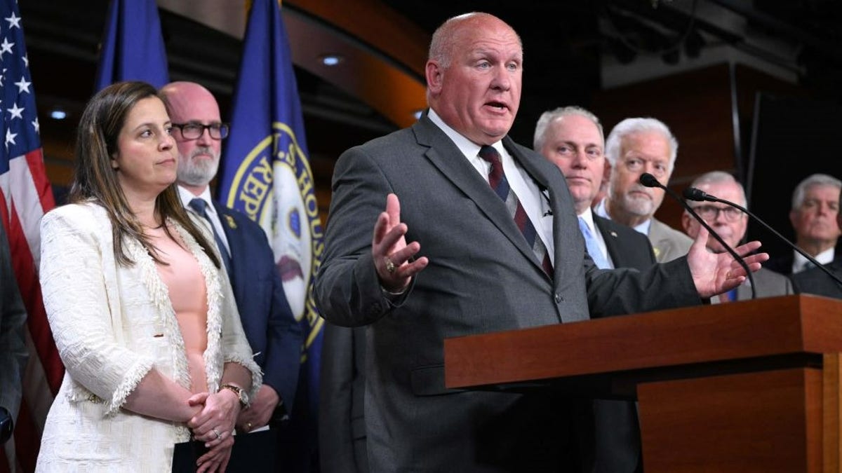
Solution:
M 173 445 L 224 471 L 260 370 L 204 226 L 175 188 L 172 125 L 155 88 L 88 103 L 70 205 L 41 222 L 40 280 L 67 372 L 38 471 L 170 471 Z

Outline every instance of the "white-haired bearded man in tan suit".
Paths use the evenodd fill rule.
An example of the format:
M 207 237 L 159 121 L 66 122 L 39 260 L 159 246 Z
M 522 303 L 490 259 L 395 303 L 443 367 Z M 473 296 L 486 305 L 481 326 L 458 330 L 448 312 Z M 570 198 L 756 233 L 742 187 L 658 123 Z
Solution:
M 605 141 L 605 157 L 611 165 L 609 189 L 594 212 L 649 237 L 658 263 L 684 256 L 693 241 L 653 216 L 664 192 L 644 187 L 640 176 L 650 173 L 666 185 L 675 169 L 678 149 L 669 127 L 653 118 L 622 120 Z

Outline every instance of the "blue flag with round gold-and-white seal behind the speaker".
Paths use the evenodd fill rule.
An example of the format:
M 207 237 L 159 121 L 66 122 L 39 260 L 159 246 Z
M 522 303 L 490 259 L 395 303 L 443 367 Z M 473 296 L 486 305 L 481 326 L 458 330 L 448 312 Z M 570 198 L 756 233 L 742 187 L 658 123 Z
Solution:
M 306 334 L 280 470 L 316 470 L 322 317 L 312 297 L 323 232 L 307 157 L 301 102 L 277 0 L 254 0 L 221 160 L 218 198 L 263 226 L 286 299 Z M 290 438 L 284 438 L 289 435 Z M 290 463 L 287 463 L 287 460 Z

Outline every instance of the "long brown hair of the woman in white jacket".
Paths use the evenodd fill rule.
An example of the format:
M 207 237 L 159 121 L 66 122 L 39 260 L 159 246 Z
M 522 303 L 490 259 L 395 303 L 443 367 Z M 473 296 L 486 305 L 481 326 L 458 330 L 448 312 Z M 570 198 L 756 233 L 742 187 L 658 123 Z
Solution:
M 69 202 L 95 202 L 108 212 L 111 221 L 111 233 L 114 237 L 114 255 L 118 263 L 131 266 L 135 262 L 129 258 L 123 245 L 124 238 L 134 238 L 141 242 L 157 263 L 164 263 L 158 258 L 157 251 L 136 215 L 131 211 L 125 199 L 123 188 L 117 180 L 117 173 L 111 167 L 111 159 L 118 150 L 117 138 L 125 124 L 125 117 L 131 109 L 144 98 L 163 98 L 147 82 L 117 82 L 100 90 L 90 99 L 76 135 L 75 176 L 70 188 Z M 219 258 L 210 248 L 210 242 L 184 210 L 179 199 L 176 184 L 170 184 L 155 199 L 155 211 L 164 222 L 164 231 L 169 237 L 168 219 L 178 222 L 195 238 L 211 261 L 220 268 Z

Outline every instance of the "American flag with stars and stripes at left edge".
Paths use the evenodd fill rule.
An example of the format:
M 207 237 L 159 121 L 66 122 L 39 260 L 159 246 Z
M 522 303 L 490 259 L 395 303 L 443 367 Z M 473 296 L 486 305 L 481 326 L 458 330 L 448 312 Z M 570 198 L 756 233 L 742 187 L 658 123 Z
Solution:
M 64 375 L 41 301 L 39 226 L 56 206 L 41 151 L 35 93 L 24 46 L 23 22 L 14 0 L 0 4 L 0 218 L 8 233 L 15 277 L 26 305 L 29 364 L 24 399 L 15 422 L 14 470 L 35 470 L 46 414 Z M 0 466 L 2 468 L 2 466 Z

